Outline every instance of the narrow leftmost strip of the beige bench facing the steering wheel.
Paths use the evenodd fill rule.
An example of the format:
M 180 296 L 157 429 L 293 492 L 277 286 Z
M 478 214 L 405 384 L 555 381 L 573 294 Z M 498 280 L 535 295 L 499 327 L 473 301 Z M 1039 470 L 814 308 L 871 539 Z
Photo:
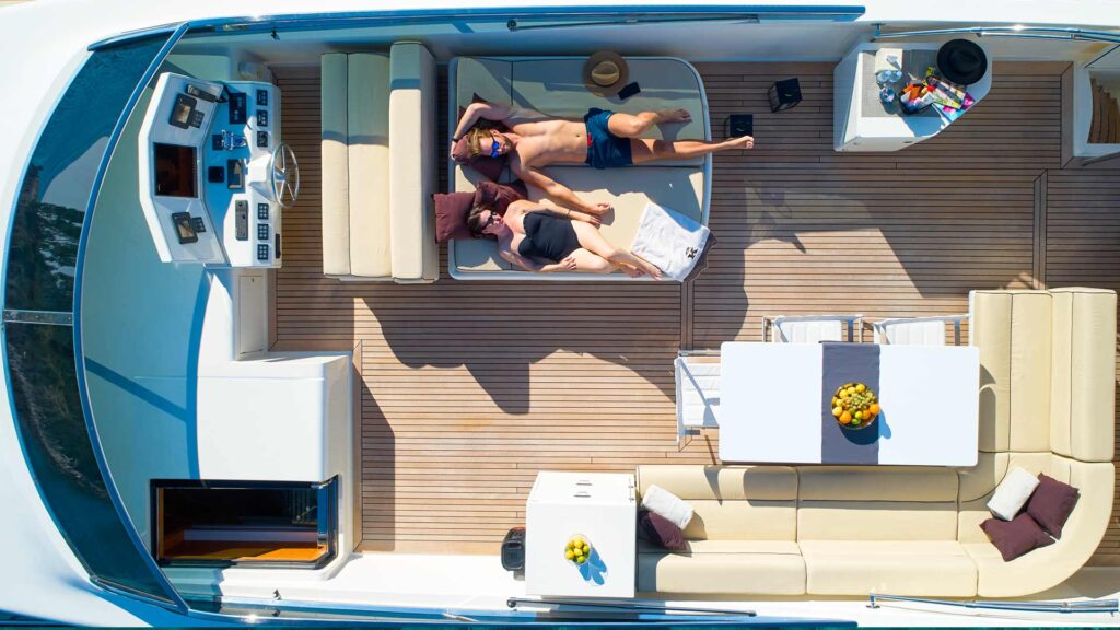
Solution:
M 346 276 L 349 270 L 349 166 L 346 148 L 346 55 L 319 59 L 321 80 L 321 206 L 323 272 Z

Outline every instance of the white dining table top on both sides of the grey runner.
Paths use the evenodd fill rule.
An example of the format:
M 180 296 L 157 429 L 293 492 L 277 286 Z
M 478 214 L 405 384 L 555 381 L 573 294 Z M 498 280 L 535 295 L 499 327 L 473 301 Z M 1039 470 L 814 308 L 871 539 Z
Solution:
M 822 456 L 823 348 L 809 343 L 722 344 L 722 461 L 850 463 Z M 978 349 L 880 345 L 876 393 L 883 409 L 876 419 L 879 427 L 861 430 L 878 430 L 877 464 L 976 465 Z

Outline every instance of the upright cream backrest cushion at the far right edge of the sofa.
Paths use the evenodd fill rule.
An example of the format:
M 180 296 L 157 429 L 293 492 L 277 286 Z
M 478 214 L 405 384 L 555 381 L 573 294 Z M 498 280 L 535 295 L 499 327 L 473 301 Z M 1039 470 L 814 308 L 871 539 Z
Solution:
M 1052 289 L 1051 447 L 1111 462 L 1116 414 L 1116 291 Z

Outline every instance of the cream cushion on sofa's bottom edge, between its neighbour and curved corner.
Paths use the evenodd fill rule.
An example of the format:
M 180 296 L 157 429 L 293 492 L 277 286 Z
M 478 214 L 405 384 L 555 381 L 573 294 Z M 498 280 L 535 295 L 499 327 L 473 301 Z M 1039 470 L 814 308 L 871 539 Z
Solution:
M 805 591 L 814 595 L 976 594 L 976 564 L 955 540 L 802 540 L 800 546 Z

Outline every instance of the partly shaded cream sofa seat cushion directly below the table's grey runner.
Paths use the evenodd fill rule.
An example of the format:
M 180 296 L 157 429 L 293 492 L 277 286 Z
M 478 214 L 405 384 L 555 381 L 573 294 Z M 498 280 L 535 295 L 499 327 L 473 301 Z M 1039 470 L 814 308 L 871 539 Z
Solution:
M 954 540 L 956 472 L 800 466 L 797 540 Z

